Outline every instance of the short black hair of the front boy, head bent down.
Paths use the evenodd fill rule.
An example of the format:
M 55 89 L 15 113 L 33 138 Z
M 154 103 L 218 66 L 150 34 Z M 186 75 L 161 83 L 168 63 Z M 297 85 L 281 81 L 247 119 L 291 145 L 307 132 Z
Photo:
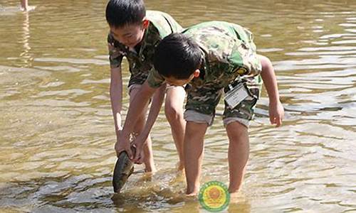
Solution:
M 153 64 L 164 77 L 187 80 L 201 64 L 199 45 L 182 33 L 167 35 L 155 49 Z

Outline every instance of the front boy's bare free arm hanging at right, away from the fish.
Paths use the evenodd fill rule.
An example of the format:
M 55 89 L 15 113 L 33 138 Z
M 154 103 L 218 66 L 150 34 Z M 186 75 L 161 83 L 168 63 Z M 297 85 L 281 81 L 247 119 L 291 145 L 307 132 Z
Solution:
M 269 119 L 271 124 L 281 126 L 284 109 L 281 101 L 279 100 L 277 79 L 273 70 L 272 62 L 263 55 L 258 55 L 258 59 L 261 61 L 261 77 L 263 84 L 265 84 L 269 99 Z

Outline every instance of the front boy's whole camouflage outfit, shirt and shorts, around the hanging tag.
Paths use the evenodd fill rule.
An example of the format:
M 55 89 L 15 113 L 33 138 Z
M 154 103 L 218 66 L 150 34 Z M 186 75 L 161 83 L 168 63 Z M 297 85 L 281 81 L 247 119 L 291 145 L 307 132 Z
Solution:
M 221 21 L 200 23 L 182 33 L 193 38 L 204 55 L 199 69 L 201 75 L 189 83 L 186 109 L 214 115 L 224 88 L 239 82 L 245 84 L 251 97 L 235 109 L 225 107 L 224 118 L 239 116 L 252 119 L 262 84 L 259 75 L 262 67 L 252 33 L 234 23 Z M 151 87 L 159 87 L 164 78 L 158 72 L 152 72 L 148 82 Z

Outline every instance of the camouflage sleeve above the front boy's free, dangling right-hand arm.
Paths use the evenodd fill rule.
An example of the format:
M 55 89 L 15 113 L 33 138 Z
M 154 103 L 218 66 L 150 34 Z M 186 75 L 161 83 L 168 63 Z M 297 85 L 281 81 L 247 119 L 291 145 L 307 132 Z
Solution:
M 235 70 L 239 75 L 255 76 L 261 73 L 262 65 L 258 60 L 256 53 L 256 45 L 253 43 L 253 34 L 243 28 L 239 32 L 241 43 L 236 43 L 232 52 L 230 61 L 234 65 Z

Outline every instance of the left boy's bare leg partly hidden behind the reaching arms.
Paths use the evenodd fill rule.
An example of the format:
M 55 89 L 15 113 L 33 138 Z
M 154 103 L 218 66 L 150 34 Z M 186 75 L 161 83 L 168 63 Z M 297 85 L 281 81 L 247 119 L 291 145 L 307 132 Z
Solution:
M 130 104 L 132 103 L 132 100 L 134 99 L 138 90 L 139 90 L 138 88 L 132 89 L 132 91 L 130 92 Z M 147 107 L 144 111 L 147 111 Z M 135 124 L 134 127 L 135 134 L 139 134 L 142 132 L 143 128 L 145 127 L 145 121 L 146 121 L 145 113 L 142 113 L 142 115 L 140 116 L 140 118 L 137 120 Z M 146 144 L 143 147 L 143 152 L 144 152 L 143 163 L 145 163 L 145 171 L 154 173 L 156 171 L 156 167 L 155 167 L 155 162 L 153 160 L 152 141 L 150 136 L 148 136 L 145 143 Z

